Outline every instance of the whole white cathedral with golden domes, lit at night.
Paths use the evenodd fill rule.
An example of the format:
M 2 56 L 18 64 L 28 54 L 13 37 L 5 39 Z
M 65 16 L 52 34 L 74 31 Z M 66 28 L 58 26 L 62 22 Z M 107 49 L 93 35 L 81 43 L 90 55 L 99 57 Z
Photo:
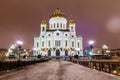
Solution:
M 49 23 L 41 21 L 40 35 L 34 37 L 35 56 L 82 56 L 82 46 L 82 37 L 76 35 L 75 21 L 68 22 L 60 9 L 53 12 Z

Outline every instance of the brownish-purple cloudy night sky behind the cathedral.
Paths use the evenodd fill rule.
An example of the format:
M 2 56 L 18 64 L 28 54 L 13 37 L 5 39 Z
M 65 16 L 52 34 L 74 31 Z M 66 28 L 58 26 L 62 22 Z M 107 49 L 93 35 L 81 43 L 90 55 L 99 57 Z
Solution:
M 75 20 L 84 46 L 95 40 L 95 47 L 120 48 L 120 0 L 0 0 L 0 48 L 8 48 L 18 39 L 24 48 L 33 48 L 41 20 L 49 21 L 56 8 L 67 20 L 71 16 Z

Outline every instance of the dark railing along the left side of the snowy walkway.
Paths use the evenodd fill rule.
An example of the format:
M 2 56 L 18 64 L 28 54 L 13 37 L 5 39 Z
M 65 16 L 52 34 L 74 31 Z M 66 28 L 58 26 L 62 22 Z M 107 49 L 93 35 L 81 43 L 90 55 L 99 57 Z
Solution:
M 25 66 L 35 65 L 36 63 L 41 63 L 48 60 L 49 58 L 40 58 L 40 59 L 34 59 L 34 60 L 0 61 L 0 72 L 24 68 Z

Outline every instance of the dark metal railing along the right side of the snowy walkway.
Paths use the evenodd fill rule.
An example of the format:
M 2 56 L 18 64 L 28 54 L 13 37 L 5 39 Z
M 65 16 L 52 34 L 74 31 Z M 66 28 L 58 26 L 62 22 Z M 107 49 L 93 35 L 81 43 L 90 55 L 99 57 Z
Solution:
M 74 57 L 68 57 L 68 61 L 80 64 L 82 66 L 96 69 L 99 71 L 107 72 L 110 74 L 116 74 L 120 76 L 120 60 L 116 59 L 90 59 L 85 57 L 79 57 L 78 59 Z

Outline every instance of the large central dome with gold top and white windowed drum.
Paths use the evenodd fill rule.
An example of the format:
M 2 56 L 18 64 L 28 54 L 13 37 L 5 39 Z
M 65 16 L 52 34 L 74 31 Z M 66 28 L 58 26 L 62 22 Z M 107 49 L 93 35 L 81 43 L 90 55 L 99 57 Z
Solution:
M 67 19 L 63 12 L 57 8 L 49 19 L 49 28 L 50 29 L 66 29 Z

